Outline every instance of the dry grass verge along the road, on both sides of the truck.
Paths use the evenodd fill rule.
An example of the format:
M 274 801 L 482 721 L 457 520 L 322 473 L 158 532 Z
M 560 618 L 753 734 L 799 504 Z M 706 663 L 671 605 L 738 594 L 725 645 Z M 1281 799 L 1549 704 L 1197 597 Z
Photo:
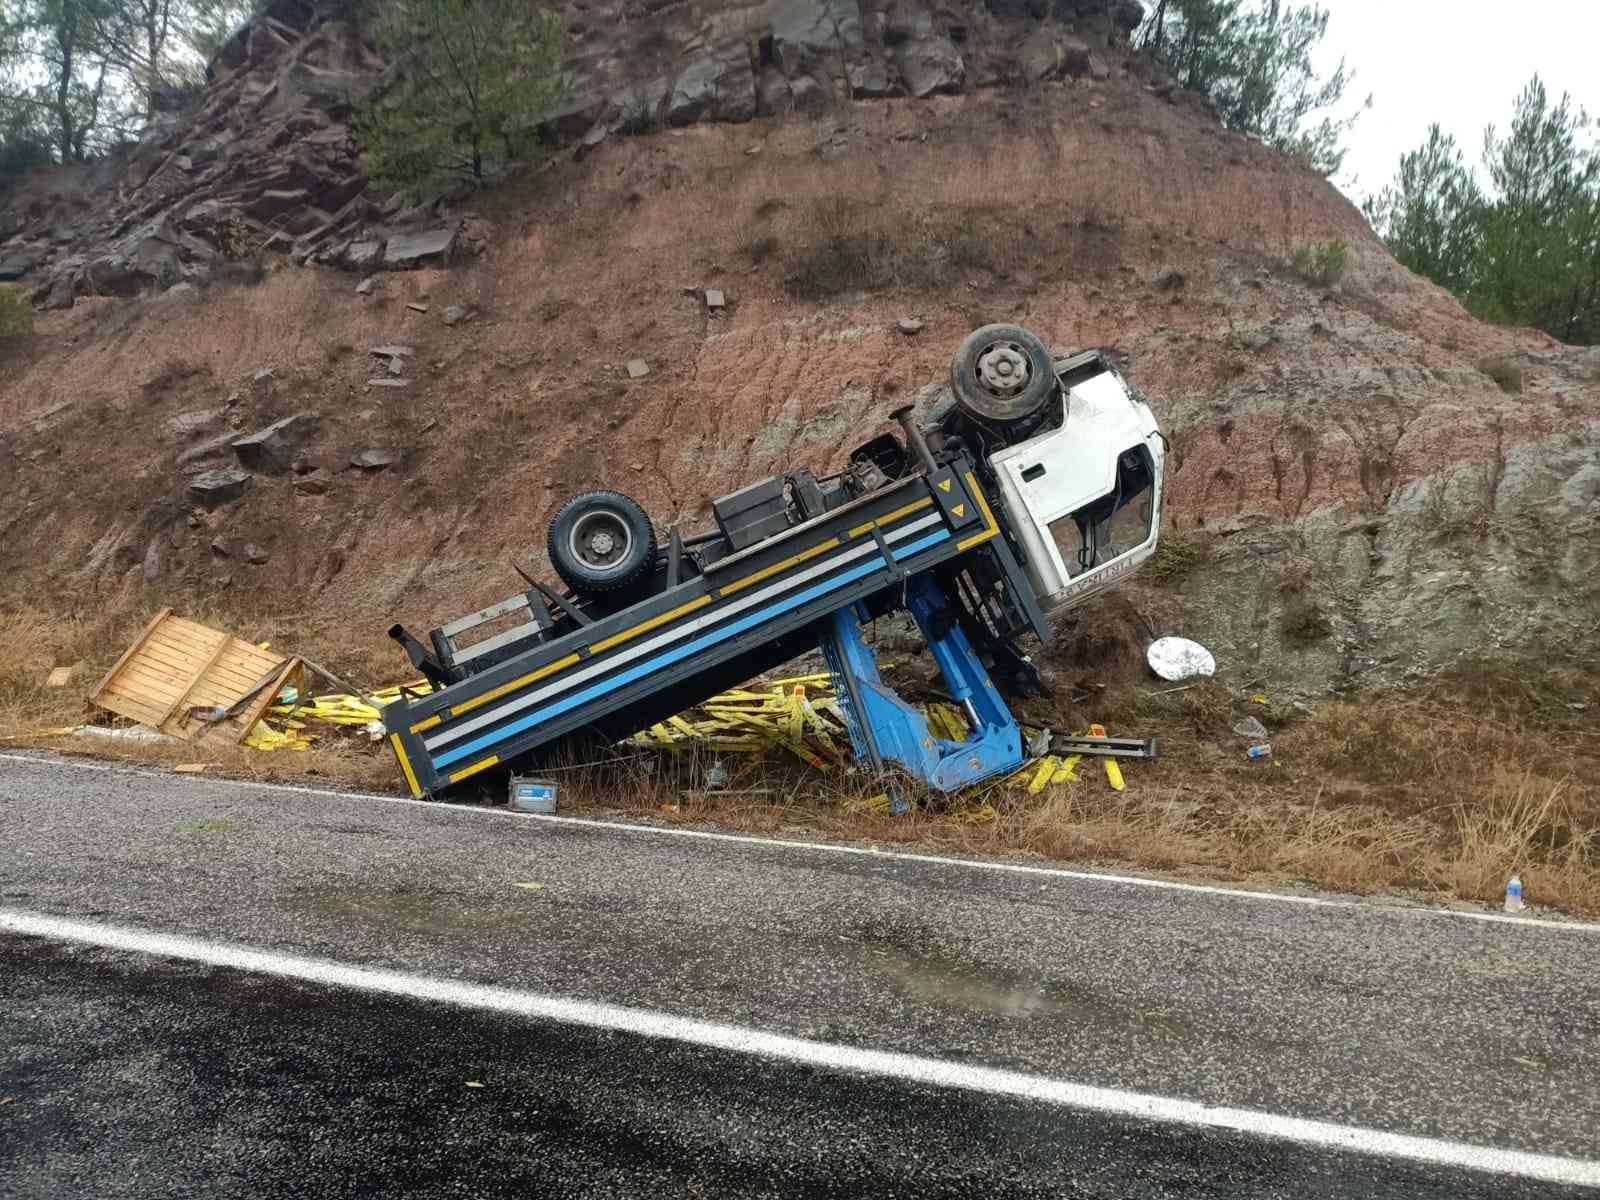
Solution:
M 0 610 L 0 738 L 149 765 L 206 762 L 214 774 L 256 781 L 398 790 L 389 755 L 354 738 L 304 754 L 259 754 L 40 736 L 83 718 L 83 694 L 144 616 Z M 286 618 L 200 616 L 246 637 L 285 637 L 291 626 Z M 1461 670 L 1411 693 L 1326 701 L 1307 715 L 1251 704 L 1216 680 L 1178 690 L 1144 682 L 1138 626 L 1131 611 L 1106 610 L 1067 630 L 1046 662 L 1058 699 L 1021 706 L 1053 728 L 1102 722 L 1114 733 L 1158 734 L 1162 758 L 1126 765 L 1120 794 L 1099 763 L 1085 762 L 1078 782 L 1043 795 L 1003 786 L 923 795 L 896 818 L 867 803 L 882 789 L 858 771 L 819 774 L 781 754 L 766 762 L 730 755 L 725 790 L 704 790 L 707 763 L 693 755 L 619 752 L 549 770 L 562 781 L 563 805 L 578 810 L 1434 899 L 1493 902 L 1518 870 L 1534 904 L 1600 914 L 1600 728 L 1592 715 L 1600 674 L 1592 664 Z M 290 638 L 306 653 L 360 658 L 304 626 L 283 645 Z M 69 688 L 45 686 L 51 667 L 74 662 L 82 666 Z M 1243 715 L 1269 726 L 1272 758 L 1245 758 L 1246 739 L 1232 733 Z

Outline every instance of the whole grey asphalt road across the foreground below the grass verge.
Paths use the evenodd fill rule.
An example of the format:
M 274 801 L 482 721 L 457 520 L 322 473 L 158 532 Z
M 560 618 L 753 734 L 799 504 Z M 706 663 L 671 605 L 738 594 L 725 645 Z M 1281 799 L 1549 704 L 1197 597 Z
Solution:
M 1261 1120 L 0 934 L 0 1195 L 1563 1194 L 1306 1120 L 1600 1160 L 1594 926 L 0 760 L 8 912 Z

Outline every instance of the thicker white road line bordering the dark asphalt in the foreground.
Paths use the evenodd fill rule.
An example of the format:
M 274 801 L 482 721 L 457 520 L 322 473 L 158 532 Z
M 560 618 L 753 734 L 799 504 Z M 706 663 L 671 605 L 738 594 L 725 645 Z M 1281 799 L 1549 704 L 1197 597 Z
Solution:
M 1098 1088 L 1046 1075 L 1027 1075 L 1018 1070 L 974 1067 L 918 1054 L 810 1042 L 784 1034 L 696 1021 L 645 1008 L 622 1008 L 590 1000 L 573 1000 L 558 995 L 518 992 L 507 987 L 406 974 L 403 971 L 352 966 L 325 958 L 302 958 L 272 950 L 258 950 L 248 946 L 210 942 L 198 938 L 128 930 L 64 917 L 46 917 L 16 909 L 0 909 L 0 931 L 99 946 L 107 950 L 181 958 L 184 962 L 205 963 L 206 966 L 301 979 L 328 987 L 381 992 L 410 1000 L 448 1003 L 536 1021 L 558 1021 L 587 1029 L 606 1029 L 638 1037 L 686 1042 L 696 1046 L 774 1058 L 827 1070 L 846 1070 L 902 1080 L 906 1083 L 960 1088 L 990 1096 L 1013 1096 L 1038 1104 L 1102 1112 L 1114 1117 L 1160 1122 L 1163 1125 L 1226 1130 L 1328 1150 L 1347 1150 L 1384 1158 L 1403 1158 L 1416 1163 L 1456 1166 L 1469 1171 L 1491 1171 L 1558 1184 L 1600 1187 L 1600 1162 L 1506 1150 L 1491 1146 L 1472 1146 L 1469 1142 L 1438 1138 L 1414 1138 L 1358 1125 L 1334 1125 L 1331 1122 L 1286 1117 L 1258 1109 L 1214 1107 L 1198 1101 L 1123 1091 L 1120 1088 Z

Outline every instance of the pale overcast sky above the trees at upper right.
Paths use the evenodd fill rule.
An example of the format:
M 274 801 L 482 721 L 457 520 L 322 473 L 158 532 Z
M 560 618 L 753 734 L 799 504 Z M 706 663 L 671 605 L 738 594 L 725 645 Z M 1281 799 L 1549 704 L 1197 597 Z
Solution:
M 1600 117 L 1600 0 L 1320 0 L 1328 37 L 1315 64 L 1344 58 L 1355 72 L 1344 109 L 1373 107 L 1346 134 L 1334 182 L 1357 203 L 1394 179 L 1400 155 L 1438 122 L 1470 165 L 1483 126 L 1504 130 L 1517 93 L 1534 75 L 1550 99 Z

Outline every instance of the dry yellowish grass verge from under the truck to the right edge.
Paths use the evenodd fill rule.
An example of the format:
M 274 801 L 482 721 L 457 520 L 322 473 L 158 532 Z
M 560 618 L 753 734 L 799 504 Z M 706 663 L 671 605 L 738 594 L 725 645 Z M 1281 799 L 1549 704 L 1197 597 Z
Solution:
M 1114 686 L 1058 712 L 1070 714 L 1062 726 L 1160 734 L 1162 758 L 1126 765 L 1125 792 L 1085 762 L 1078 782 L 1043 795 L 994 786 L 918 797 L 899 818 L 866 803 L 878 787 L 859 774 L 781 760 L 730 757 L 734 778 L 715 792 L 693 758 L 565 763 L 557 778 L 578 808 L 1354 893 L 1494 902 L 1518 870 L 1531 902 L 1600 912 L 1600 734 L 1459 696 L 1450 680 L 1304 715 L 1242 702 L 1216 682 Z M 1272 730 L 1272 758 L 1245 758 L 1232 725 L 1246 712 Z

